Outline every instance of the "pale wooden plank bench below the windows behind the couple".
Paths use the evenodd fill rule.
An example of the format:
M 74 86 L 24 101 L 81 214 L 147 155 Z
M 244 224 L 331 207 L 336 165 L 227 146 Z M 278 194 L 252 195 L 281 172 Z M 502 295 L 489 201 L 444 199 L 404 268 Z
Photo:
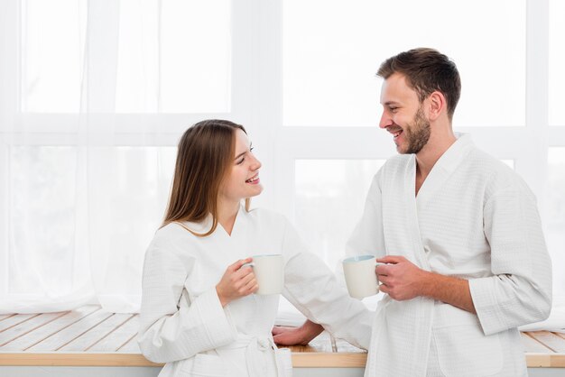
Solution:
M 98 306 L 42 314 L 0 315 L 0 366 L 160 366 L 135 342 L 136 314 Z M 530 368 L 565 368 L 565 334 L 522 334 Z M 310 345 L 292 346 L 295 368 L 364 368 L 366 352 L 322 333 Z M 565 374 L 565 370 L 563 370 Z

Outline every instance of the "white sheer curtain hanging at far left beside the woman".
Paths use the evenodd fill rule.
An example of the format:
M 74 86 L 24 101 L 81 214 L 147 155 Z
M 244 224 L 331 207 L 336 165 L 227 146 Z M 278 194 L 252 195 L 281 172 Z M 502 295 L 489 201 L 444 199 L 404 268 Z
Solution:
M 42 50 L 40 26 L 22 22 L 41 12 L 39 2 L 0 5 L 0 313 L 87 302 L 136 311 L 175 154 L 141 115 L 160 106 L 161 2 L 49 2 L 74 23 L 60 38 L 79 56 L 65 61 Z M 78 75 L 77 85 L 61 80 L 70 84 L 59 92 L 42 69 Z

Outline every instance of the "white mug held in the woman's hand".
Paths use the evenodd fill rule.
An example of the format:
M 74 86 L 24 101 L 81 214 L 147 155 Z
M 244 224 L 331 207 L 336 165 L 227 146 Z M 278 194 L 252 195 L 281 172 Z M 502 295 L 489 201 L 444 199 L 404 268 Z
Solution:
M 284 286 L 284 260 L 281 254 L 253 255 L 253 267 L 259 289 L 258 295 L 274 295 L 282 292 Z

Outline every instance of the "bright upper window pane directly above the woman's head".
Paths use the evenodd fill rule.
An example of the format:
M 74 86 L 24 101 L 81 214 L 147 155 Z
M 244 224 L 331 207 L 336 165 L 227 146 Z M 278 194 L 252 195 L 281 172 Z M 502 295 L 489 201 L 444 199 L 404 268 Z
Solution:
M 229 0 L 157 5 L 122 0 L 116 111 L 229 112 Z

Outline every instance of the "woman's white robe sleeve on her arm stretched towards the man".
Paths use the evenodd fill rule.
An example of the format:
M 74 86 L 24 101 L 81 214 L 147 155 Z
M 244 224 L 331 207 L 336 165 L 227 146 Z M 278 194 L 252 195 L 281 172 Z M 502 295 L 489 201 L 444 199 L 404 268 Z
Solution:
M 285 223 L 282 253 L 286 257 L 282 295 L 333 336 L 367 349 L 375 313 L 349 297 L 326 263 L 306 250 L 289 222 Z

